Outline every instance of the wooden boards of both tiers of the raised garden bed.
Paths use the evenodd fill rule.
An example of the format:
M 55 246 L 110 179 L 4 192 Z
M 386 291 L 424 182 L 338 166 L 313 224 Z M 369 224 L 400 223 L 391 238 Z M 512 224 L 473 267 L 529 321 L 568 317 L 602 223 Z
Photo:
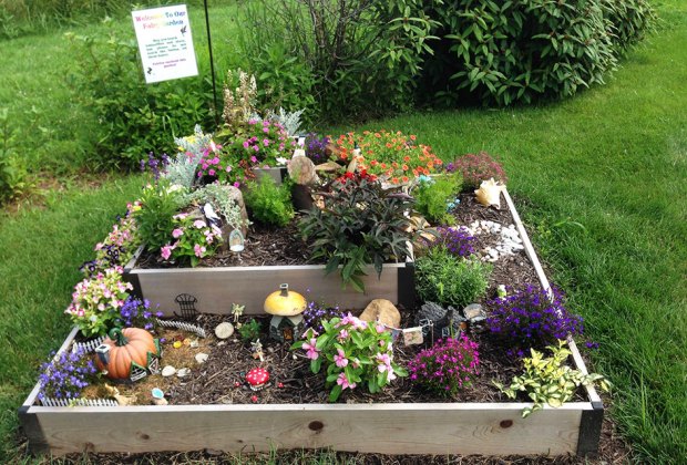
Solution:
M 504 196 L 526 256 L 542 286 L 547 288 L 513 203 L 506 192 Z M 368 283 L 369 296 L 357 298 L 367 303 L 370 298 L 384 297 L 387 292 L 389 300 L 403 303 L 406 288 L 412 285 L 403 285 L 400 270 L 408 268 L 384 266 L 382 280 L 386 280 L 372 279 Z M 309 287 L 315 298 L 322 294 L 328 301 L 348 298 L 335 293 L 340 291 L 338 279 L 324 279 L 318 266 L 130 270 L 130 273 L 136 275 L 146 298 L 174 299 L 188 292 L 198 297 L 198 310 L 204 312 L 228 313 L 235 302 L 245 303 L 246 312 L 259 313 L 264 289 L 276 289 L 280 282 Z M 172 279 L 178 280 L 171 285 Z M 208 287 L 202 288 L 206 282 Z M 348 302 L 350 307 L 365 306 L 353 303 L 352 299 Z M 72 331 L 61 350 L 69 349 L 75 334 L 76 330 Z M 586 373 L 574 341 L 570 341 L 570 347 L 574 364 Z M 47 407 L 37 404 L 38 392 L 37 385 L 20 409 L 20 418 L 30 448 L 55 455 L 82 451 L 202 448 L 253 452 L 275 447 L 331 447 L 384 454 L 587 454 L 598 446 L 604 414 L 601 399 L 591 388 L 582 392 L 584 400 L 565 403 L 560 409 L 545 406 L 527 418 L 522 418 L 521 412 L 531 404 L 521 402 Z

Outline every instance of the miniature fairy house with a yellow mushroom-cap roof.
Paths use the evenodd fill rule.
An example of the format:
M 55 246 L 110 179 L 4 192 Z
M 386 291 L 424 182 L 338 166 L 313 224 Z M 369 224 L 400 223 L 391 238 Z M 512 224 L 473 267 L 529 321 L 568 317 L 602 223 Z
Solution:
M 265 299 L 265 312 L 271 314 L 269 337 L 280 342 L 291 342 L 303 331 L 303 312 L 307 306 L 305 297 L 289 291 L 288 285 Z

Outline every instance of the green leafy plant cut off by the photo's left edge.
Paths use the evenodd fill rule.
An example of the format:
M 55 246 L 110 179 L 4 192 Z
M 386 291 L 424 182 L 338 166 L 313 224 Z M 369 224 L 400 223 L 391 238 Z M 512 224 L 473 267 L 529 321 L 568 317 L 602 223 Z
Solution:
M 0 108 L 0 205 L 24 194 L 29 187 L 27 168 L 14 148 L 16 138 L 8 108 Z

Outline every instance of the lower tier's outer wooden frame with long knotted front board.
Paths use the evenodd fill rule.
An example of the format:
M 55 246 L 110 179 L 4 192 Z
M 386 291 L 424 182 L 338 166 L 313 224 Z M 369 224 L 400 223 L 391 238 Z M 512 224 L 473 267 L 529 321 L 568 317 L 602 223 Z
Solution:
M 513 202 L 507 192 L 504 196 L 525 251 L 547 289 Z M 265 288 L 255 287 L 264 294 Z M 75 334 L 76 329 L 61 351 L 69 350 Z M 572 338 L 568 343 L 575 365 L 586 373 Z M 597 452 L 604 417 L 593 388 L 585 389 L 584 402 L 560 409 L 546 405 L 527 418 L 521 412 L 532 404 L 521 402 L 45 407 L 38 404 L 38 392 L 37 384 L 19 417 L 30 451 L 53 455 L 318 447 L 382 454 L 586 455 Z

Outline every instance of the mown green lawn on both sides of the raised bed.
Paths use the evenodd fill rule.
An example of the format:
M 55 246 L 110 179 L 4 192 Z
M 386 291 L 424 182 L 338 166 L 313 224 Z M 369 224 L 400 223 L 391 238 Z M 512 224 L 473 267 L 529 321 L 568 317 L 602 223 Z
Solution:
M 602 344 L 591 356 L 616 385 L 612 414 L 622 434 L 644 462 L 679 463 L 687 456 L 687 4 L 671 0 L 659 12 L 663 29 L 607 85 L 570 101 L 418 113 L 366 127 L 414 133 L 447 159 L 480 149 L 501 156 L 552 280 Z M 12 41 L 14 73 L 30 74 L 21 58 L 53 41 Z M 0 74 L 0 82 L 14 81 Z M 32 85 L 17 108 L 41 99 Z M 0 102 L 12 93 L 3 87 Z M 68 332 L 62 311 L 76 268 L 139 185 L 74 187 L 45 208 L 0 216 L 0 462 L 13 456 L 14 412 L 37 366 Z

